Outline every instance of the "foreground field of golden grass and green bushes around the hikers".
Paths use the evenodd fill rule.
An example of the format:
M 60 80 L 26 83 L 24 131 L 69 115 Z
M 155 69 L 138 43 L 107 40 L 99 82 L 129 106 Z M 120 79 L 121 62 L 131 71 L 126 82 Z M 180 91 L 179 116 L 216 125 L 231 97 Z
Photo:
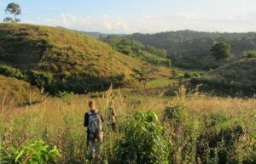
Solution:
M 125 98 L 120 91 L 96 97 L 102 111 L 114 99 L 118 113 L 117 132 L 104 125 L 102 162 L 254 164 L 255 99 L 188 95 L 182 90 L 174 99 L 137 94 Z M 61 164 L 87 163 L 83 115 L 88 100 L 88 96 L 73 95 L 30 106 L 15 113 L 9 121 L 4 119 L 0 127 L 7 130 L 2 133 L 12 129 L 10 142 L 20 143 L 27 135 L 36 135 L 50 145 L 57 145 L 61 149 Z M 153 109 L 159 121 L 154 113 L 148 112 Z

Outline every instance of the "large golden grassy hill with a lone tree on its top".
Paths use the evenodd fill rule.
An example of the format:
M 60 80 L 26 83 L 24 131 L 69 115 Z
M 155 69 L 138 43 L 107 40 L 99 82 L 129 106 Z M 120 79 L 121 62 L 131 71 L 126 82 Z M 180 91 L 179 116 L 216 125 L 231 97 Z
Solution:
M 0 61 L 52 78 L 51 88 L 78 93 L 131 83 L 132 69 L 143 65 L 79 32 L 24 24 L 0 24 Z M 170 71 L 161 68 L 158 75 Z

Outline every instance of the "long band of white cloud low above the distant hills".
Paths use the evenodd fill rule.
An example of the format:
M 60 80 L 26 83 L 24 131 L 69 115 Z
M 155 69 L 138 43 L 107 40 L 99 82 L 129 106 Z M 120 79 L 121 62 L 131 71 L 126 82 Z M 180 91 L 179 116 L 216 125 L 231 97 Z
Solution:
M 104 33 L 153 33 L 160 31 L 255 31 L 256 9 L 244 14 L 221 17 L 198 14 L 151 15 L 141 14 L 136 18 L 121 18 L 108 15 L 101 17 L 80 17 L 61 14 L 55 19 L 40 19 L 31 23 L 63 26 L 79 31 L 100 31 Z

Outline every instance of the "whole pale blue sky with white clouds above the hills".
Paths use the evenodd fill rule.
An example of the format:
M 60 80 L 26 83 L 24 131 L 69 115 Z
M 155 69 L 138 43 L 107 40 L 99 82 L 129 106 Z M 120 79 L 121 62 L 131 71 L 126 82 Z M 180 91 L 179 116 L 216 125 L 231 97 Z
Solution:
M 79 31 L 256 31 L 256 0 L 0 0 L 0 21 L 13 2 L 23 23 Z

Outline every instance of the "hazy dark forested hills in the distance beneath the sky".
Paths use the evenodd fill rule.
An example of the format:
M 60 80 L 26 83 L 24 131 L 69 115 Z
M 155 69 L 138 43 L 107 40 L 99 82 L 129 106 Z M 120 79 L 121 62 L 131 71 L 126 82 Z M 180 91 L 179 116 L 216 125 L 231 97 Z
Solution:
M 209 57 L 209 49 L 216 42 L 228 42 L 231 53 L 240 57 L 243 51 L 255 50 L 256 33 L 218 33 L 199 31 L 169 31 L 156 34 L 136 33 L 130 37 L 145 45 L 165 48 L 172 57 L 172 64 L 183 68 L 216 68 Z

